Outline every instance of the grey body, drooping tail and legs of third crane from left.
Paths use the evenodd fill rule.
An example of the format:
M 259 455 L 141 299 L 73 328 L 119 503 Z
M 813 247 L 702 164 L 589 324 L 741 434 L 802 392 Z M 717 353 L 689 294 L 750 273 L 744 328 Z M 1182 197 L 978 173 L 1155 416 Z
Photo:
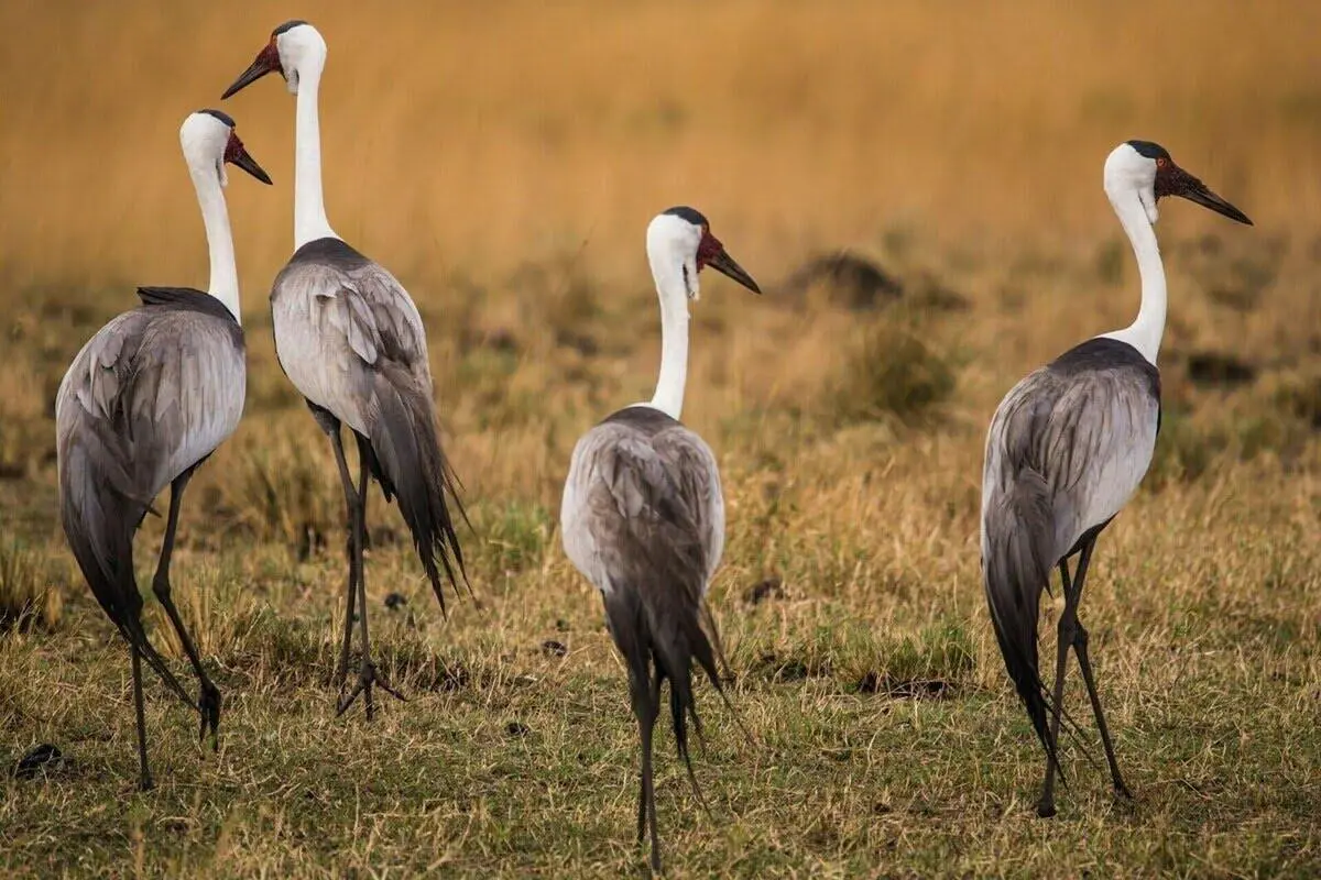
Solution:
M 629 669 L 642 736 L 638 839 L 650 814 L 659 867 L 651 784 L 651 728 L 660 683 L 670 681 L 675 744 L 697 792 L 687 720 L 701 731 L 692 661 L 724 695 L 719 643 L 705 594 L 724 549 L 720 474 L 705 442 L 651 406 L 622 409 L 575 446 L 561 507 L 564 549 L 601 591 L 614 643 Z

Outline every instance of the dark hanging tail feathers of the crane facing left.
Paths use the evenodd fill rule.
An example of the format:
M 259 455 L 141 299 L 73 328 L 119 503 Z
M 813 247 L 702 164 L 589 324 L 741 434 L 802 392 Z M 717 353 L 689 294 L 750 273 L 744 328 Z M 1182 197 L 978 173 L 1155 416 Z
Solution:
M 446 496 L 465 522 L 468 515 L 458 500 L 457 479 L 440 449 L 431 393 L 419 388 L 411 373 L 392 367 L 376 373 L 375 393 L 379 410 L 367 438 L 374 458 L 373 475 L 380 482 L 386 499 L 398 500 L 444 612 L 445 594 L 437 559 L 456 594 L 460 581 L 472 592 Z

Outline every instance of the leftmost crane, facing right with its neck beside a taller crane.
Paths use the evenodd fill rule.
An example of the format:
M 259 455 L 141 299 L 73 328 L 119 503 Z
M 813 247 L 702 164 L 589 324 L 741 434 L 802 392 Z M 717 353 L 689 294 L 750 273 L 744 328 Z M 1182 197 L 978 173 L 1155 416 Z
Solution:
M 247 387 L 239 280 L 225 207 L 226 162 L 269 185 L 217 110 L 188 116 L 180 145 L 206 226 L 211 278 L 206 292 L 139 288 L 139 307 L 114 318 L 82 347 L 55 397 L 59 520 L 96 602 L 128 643 L 137 710 L 139 782 L 152 788 L 143 720 L 145 660 L 201 716 L 199 739 L 217 745 L 221 693 L 207 677 L 170 598 L 170 557 L 180 501 L 197 468 L 238 427 Z M 165 608 L 201 683 L 194 703 L 143 629 L 133 577 L 133 534 L 152 501 L 170 487 L 169 513 L 152 592 Z

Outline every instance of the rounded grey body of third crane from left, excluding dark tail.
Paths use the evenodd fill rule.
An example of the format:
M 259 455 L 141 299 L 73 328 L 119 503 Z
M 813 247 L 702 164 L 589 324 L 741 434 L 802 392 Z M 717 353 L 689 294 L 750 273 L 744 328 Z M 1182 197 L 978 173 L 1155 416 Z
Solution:
M 725 544 L 711 447 L 651 406 L 629 406 L 573 447 L 560 508 L 564 551 L 606 602 L 650 590 L 696 615 Z

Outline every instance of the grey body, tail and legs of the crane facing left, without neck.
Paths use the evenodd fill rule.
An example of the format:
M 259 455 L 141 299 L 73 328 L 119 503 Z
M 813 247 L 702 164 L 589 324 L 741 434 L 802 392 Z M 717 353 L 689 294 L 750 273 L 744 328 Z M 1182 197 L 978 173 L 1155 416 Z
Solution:
M 403 285 L 339 239 L 317 239 L 299 248 L 276 277 L 271 313 L 280 365 L 330 435 L 337 462 L 342 459 L 341 422 L 358 442 L 357 488 L 341 464 L 350 520 L 342 678 L 347 623 L 354 617 L 353 582 L 362 583 L 366 475 L 376 479 L 387 501 L 398 500 L 441 610 L 440 569 L 456 591 L 464 579 L 462 550 L 450 515 L 450 505 L 460 516 L 462 507 L 436 429 L 427 334 Z M 366 607 L 358 613 L 366 628 Z M 370 657 L 363 662 L 366 679 L 379 682 Z M 359 685 L 369 691 L 370 715 L 370 685 Z M 341 711 L 346 707 L 341 701 Z

